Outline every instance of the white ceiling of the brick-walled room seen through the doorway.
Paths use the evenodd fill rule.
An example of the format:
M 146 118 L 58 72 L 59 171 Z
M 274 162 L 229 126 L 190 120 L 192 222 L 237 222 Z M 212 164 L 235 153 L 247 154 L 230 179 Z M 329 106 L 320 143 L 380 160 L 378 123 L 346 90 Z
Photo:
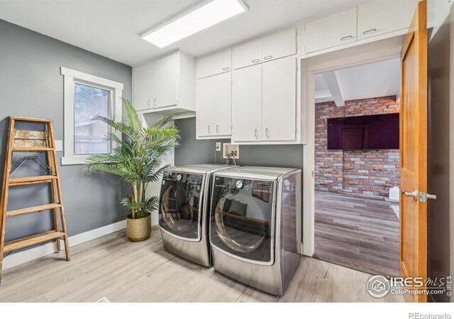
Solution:
M 399 95 L 399 57 L 379 62 L 337 69 L 338 90 L 343 101 L 368 99 L 378 96 Z M 324 74 L 316 74 L 316 102 L 334 101 L 336 88 L 330 88 L 323 80 Z M 326 92 L 330 91 L 330 93 Z M 331 94 L 333 93 L 333 94 Z

